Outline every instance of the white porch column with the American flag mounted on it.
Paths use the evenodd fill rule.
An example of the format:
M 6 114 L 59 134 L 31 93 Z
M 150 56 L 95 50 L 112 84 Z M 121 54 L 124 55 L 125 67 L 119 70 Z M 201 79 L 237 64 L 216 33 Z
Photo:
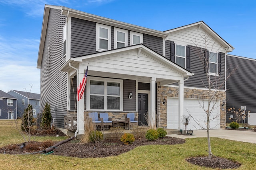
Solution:
M 79 69 L 79 77 L 77 80 L 77 86 L 84 78 L 84 69 Z M 85 98 L 86 96 L 84 96 Z M 77 122 L 78 122 L 78 134 L 84 134 L 84 98 L 77 102 Z

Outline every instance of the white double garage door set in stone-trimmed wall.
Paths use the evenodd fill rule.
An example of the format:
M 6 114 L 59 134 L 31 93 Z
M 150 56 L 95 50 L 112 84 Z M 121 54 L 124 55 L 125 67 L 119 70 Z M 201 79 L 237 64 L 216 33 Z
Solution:
M 207 108 L 208 100 L 198 100 L 198 99 L 184 99 L 184 115 L 188 115 L 188 112 L 196 119 L 199 124 L 206 128 L 206 113 L 200 107 L 200 104 L 204 104 Z M 215 101 L 214 101 L 215 102 Z M 167 128 L 168 129 L 178 129 L 178 98 L 167 98 Z M 188 110 L 188 112 L 186 111 Z M 212 111 L 212 115 L 210 118 L 216 117 L 216 115 L 220 115 L 220 100 L 217 100 L 214 110 Z M 181 124 L 182 125 L 182 124 Z M 196 121 L 192 118 L 190 120 L 189 125 L 187 126 L 187 130 L 196 130 L 202 129 Z M 184 125 L 182 125 L 184 126 Z M 220 116 L 216 119 L 210 121 L 210 128 L 212 129 L 220 129 Z M 185 126 L 184 126 L 185 129 Z M 179 130 L 179 129 L 178 129 Z

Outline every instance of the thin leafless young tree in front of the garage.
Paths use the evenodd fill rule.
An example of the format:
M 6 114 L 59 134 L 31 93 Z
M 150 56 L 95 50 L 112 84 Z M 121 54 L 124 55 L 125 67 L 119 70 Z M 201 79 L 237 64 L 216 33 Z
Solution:
M 207 139 L 208 139 L 208 158 L 212 158 L 212 149 L 211 149 L 211 142 L 210 142 L 210 129 L 213 129 L 214 127 L 210 127 L 210 122 L 220 117 L 219 114 L 213 113 L 215 109 L 218 109 L 217 106 L 217 99 L 220 98 L 220 92 L 225 86 L 226 80 L 235 72 L 237 69 L 234 68 L 228 75 L 225 76 L 225 74 L 218 74 L 218 65 L 215 67 L 212 67 L 211 61 L 214 59 L 214 55 L 220 50 L 220 47 L 216 45 L 216 39 L 213 39 L 211 36 L 211 33 L 207 33 L 206 28 L 204 33 L 201 35 L 202 42 L 197 42 L 197 40 L 194 42 L 197 49 L 197 54 L 200 57 L 202 63 L 204 64 L 204 69 L 206 72 L 206 80 L 203 80 L 201 78 L 202 84 L 207 89 L 207 99 L 203 99 L 203 102 L 199 102 L 200 108 L 204 110 L 204 113 L 206 113 L 206 117 L 202 119 L 196 119 L 193 117 L 193 115 L 190 114 L 192 119 L 200 126 L 201 129 L 204 129 L 207 131 Z M 203 45 L 200 45 L 203 44 Z M 210 49 L 209 49 L 210 47 Z M 217 47 L 217 48 L 216 48 Z M 209 49 L 209 51 L 207 51 Z M 218 59 L 218 55 L 216 56 Z M 220 68 L 219 68 L 220 69 Z M 210 73 L 212 71 L 215 71 L 215 74 Z M 226 73 L 226 70 L 225 70 Z M 206 100 L 206 102 L 204 102 Z M 201 122 L 204 122 L 203 124 Z

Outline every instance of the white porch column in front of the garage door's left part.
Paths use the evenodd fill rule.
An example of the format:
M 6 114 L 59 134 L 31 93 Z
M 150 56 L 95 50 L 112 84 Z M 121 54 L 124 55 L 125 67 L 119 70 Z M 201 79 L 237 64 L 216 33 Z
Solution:
M 181 123 L 181 119 L 183 117 L 184 112 L 184 80 L 180 80 L 179 84 L 179 122 L 178 122 L 178 130 L 183 129 L 183 125 Z

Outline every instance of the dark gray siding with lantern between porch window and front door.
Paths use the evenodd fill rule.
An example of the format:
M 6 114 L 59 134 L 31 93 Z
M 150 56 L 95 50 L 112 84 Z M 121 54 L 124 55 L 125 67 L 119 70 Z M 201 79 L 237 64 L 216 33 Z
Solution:
M 136 111 L 136 81 L 135 80 L 124 80 L 124 111 Z M 132 99 L 129 99 L 129 94 L 132 92 Z

